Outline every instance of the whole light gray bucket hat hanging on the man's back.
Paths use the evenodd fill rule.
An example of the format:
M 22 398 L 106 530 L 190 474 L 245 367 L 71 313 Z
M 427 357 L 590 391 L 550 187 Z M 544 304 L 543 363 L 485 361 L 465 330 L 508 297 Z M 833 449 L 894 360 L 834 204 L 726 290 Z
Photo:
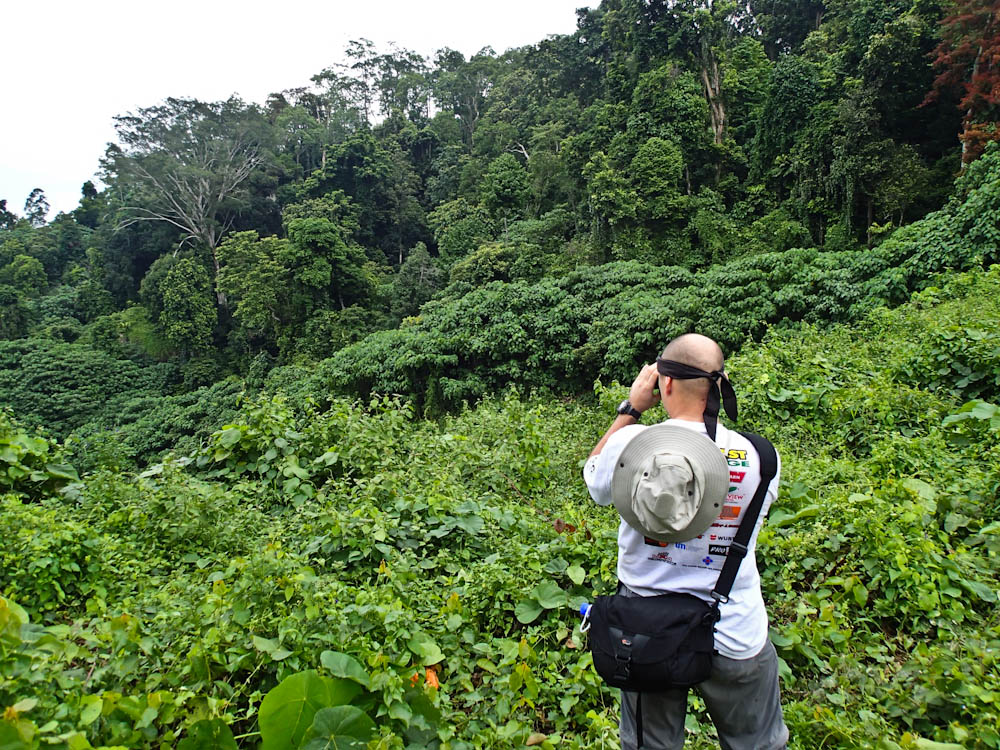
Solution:
M 660 542 L 686 542 L 722 512 L 729 466 L 715 441 L 670 424 L 625 444 L 611 475 L 611 500 L 625 522 Z

